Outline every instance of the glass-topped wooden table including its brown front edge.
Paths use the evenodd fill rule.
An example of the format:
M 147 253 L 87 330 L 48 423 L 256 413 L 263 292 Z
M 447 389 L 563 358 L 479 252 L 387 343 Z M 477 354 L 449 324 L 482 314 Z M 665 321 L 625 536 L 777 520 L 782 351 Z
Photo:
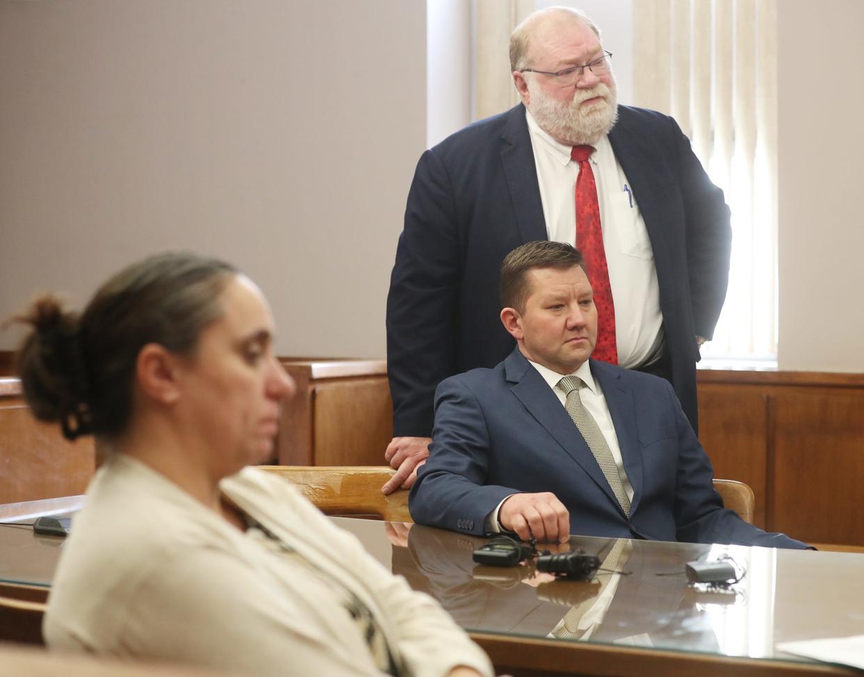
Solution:
M 0 507 L 0 521 L 15 519 L 16 512 L 38 512 L 33 508 Z M 472 552 L 484 540 L 459 533 L 332 519 L 413 588 L 435 597 L 492 656 L 499 672 L 517 677 L 860 674 L 783 654 L 777 645 L 864 634 L 861 554 L 629 541 L 618 570 L 630 573 L 619 578 L 593 634 L 586 641 L 564 641 L 548 635 L 572 606 L 596 596 L 597 584 L 543 582 L 530 566 L 477 568 Z M 0 580 L 47 592 L 61 542 L 0 527 Z M 611 544 L 580 536 L 570 542 L 600 556 Z M 687 585 L 685 563 L 723 554 L 746 567 L 734 591 L 696 591 Z

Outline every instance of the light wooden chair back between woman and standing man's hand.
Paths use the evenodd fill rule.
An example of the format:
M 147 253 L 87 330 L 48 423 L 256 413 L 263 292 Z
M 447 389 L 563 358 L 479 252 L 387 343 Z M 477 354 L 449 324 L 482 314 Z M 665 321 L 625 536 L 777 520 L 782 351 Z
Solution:
M 408 490 L 390 495 L 381 487 L 394 474 L 381 466 L 262 465 L 261 469 L 283 477 L 324 514 L 373 515 L 381 520 L 410 522 Z

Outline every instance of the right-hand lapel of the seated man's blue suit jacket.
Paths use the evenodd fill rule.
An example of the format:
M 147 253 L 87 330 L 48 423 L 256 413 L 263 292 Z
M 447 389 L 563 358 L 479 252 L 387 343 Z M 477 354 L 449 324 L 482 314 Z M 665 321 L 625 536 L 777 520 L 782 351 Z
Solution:
M 630 501 L 630 514 L 636 512 L 639 499 L 642 496 L 642 447 L 636 432 L 636 405 L 633 393 L 621 380 L 617 370 L 608 368 L 603 362 L 592 360 L 591 374 L 600 383 L 603 397 L 609 408 L 609 415 L 615 426 L 615 436 L 621 450 L 621 460 L 630 486 L 633 488 L 633 498 Z

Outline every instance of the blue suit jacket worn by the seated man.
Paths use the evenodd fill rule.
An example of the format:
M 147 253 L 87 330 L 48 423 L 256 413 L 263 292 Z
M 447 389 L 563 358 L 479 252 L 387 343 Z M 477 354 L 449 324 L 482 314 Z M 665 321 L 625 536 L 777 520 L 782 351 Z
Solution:
M 590 365 L 632 484 L 629 515 L 555 393 L 516 348 L 497 367 L 438 387 L 429 461 L 410 493 L 414 521 L 482 534 L 486 515 L 505 496 L 551 491 L 569 510 L 573 533 L 806 547 L 723 508 L 711 462 L 667 381 Z

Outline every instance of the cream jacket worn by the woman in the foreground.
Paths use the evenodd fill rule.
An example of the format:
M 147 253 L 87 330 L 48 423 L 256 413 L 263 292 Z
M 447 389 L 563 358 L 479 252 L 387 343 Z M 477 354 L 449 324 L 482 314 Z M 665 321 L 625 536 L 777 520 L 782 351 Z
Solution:
M 431 597 L 276 476 L 220 488 L 372 610 L 399 674 L 492 674 Z M 253 675 L 379 675 L 359 629 L 315 596 L 308 564 L 279 557 L 143 463 L 118 454 L 93 478 L 63 546 L 43 634 L 50 648 L 179 661 Z M 320 590 L 320 586 L 319 586 Z

